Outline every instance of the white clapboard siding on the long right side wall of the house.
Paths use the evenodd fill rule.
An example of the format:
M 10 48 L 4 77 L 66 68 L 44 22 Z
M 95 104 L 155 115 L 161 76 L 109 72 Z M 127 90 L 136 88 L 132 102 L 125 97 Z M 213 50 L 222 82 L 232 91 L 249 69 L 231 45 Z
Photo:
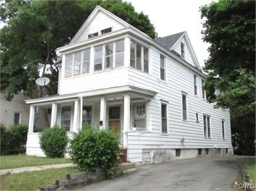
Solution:
M 166 59 L 166 81 L 159 79 L 160 53 L 151 50 L 151 74 L 129 68 L 128 83 L 158 94 L 151 101 L 151 129 L 148 133 L 130 131 L 128 133 L 128 156 L 130 161 L 141 161 L 140 149 L 171 148 L 230 148 L 230 114 L 223 109 L 213 109 L 213 105 L 202 99 L 202 83 L 197 77 L 197 92 L 194 95 L 194 74 L 173 60 Z M 182 92 L 187 92 L 187 117 L 182 121 Z M 160 99 L 168 102 L 168 135 L 161 134 Z M 195 121 L 195 112 L 199 122 Z M 203 114 L 211 116 L 211 138 L 204 138 Z M 225 120 L 226 139 L 222 139 L 221 119 Z M 182 143 L 180 139 L 185 138 Z

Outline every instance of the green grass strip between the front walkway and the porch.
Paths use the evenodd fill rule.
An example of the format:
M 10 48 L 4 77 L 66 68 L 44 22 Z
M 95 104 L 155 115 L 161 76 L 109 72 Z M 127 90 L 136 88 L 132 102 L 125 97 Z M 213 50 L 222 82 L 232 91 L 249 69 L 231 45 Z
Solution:
M 60 163 L 71 163 L 71 160 L 68 158 L 47 158 L 28 155 L 0 156 L 0 169 L 52 165 Z

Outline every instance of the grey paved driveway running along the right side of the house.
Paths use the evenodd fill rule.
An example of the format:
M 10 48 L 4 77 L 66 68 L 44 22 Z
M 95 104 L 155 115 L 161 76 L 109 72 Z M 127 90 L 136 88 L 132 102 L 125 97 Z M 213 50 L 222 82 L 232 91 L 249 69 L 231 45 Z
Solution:
M 76 191 L 234 190 L 241 156 L 204 156 L 140 166 L 137 171 Z

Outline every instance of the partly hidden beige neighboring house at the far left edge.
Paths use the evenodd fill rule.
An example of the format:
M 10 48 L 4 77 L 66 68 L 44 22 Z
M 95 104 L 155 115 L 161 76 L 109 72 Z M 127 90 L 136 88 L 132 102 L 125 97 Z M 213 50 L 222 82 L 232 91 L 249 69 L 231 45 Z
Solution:
M 25 103 L 27 99 L 21 92 L 7 101 L 4 92 L 0 92 L 0 123 L 9 127 L 13 124 L 26 124 L 30 114 L 30 107 Z

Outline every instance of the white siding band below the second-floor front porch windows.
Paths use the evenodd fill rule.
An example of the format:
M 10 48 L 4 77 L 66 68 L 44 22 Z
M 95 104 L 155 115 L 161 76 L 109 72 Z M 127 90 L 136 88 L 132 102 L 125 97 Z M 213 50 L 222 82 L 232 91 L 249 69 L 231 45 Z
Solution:
M 114 70 L 62 79 L 59 94 L 72 94 L 122 85 L 127 85 L 127 68 L 119 67 Z

